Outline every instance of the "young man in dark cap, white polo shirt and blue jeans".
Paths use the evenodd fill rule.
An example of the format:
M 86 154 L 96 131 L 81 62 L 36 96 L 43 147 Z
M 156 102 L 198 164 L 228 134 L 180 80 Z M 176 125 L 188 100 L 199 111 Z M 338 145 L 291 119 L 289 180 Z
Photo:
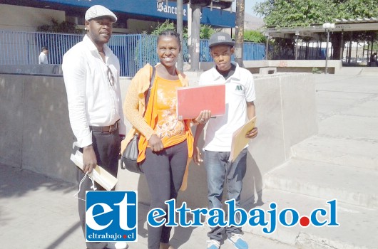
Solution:
M 231 62 L 235 43 L 228 33 L 214 33 L 209 39 L 210 54 L 214 59 L 214 67 L 200 75 L 198 85 L 225 84 L 225 115 L 208 121 L 206 128 L 204 162 L 208 178 L 209 208 L 222 208 L 223 186 L 227 179 L 228 200 L 235 199 L 236 208 L 240 208 L 242 179 L 247 165 L 247 147 L 232 162 L 229 161 L 233 132 L 245 124 L 246 117 L 255 117 L 255 85 L 252 73 Z M 198 148 L 198 139 L 205 124 L 198 124 L 194 137 L 193 159 L 196 164 L 202 161 Z M 247 138 L 255 138 L 257 128 L 245 134 Z M 240 213 L 235 218 L 240 223 Z M 248 244 L 242 238 L 242 228 L 236 226 L 212 227 L 208 233 L 208 249 L 220 248 L 223 234 L 237 249 L 247 249 Z

